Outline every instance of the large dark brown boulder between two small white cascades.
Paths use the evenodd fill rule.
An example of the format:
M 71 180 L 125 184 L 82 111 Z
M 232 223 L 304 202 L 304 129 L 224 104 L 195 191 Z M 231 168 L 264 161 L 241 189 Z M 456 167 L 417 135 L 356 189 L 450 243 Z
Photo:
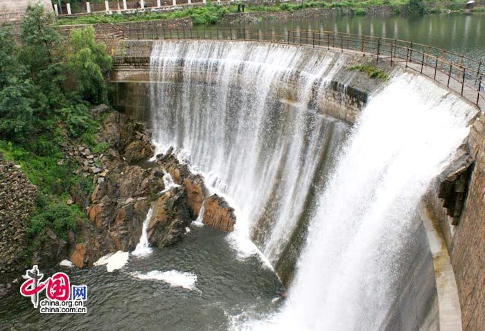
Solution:
M 153 205 L 153 215 L 147 227 L 148 242 L 159 248 L 175 244 L 184 237 L 191 222 L 185 189 L 173 188 Z

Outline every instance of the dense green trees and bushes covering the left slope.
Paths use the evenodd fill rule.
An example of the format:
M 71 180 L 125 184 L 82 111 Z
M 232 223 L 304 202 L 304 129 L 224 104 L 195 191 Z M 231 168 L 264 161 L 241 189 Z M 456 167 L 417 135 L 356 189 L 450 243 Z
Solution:
M 66 44 L 42 6 L 29 6 L 17 42 L 10 26 L 0 26 L 0 159 L 21 166 L 38 188 L 27 233 L 47 229 L 61 238 L 85 218 L 67 204 L 74 186 L 90 191 L 90 179 L 75 175 L 62 159 L 62 146 L 79 141 L 96 148 L 99 123 L 91 103 L 105 102 L 105 75 L 112 66 L 92 27 L 73 30 Z

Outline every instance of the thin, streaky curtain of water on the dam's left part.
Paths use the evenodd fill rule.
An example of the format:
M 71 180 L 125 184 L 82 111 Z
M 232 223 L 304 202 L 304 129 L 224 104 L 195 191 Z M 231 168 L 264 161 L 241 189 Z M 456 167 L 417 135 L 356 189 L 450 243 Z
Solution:
M 333 162 L 349 129 L 307 110 L 310 95 L 342 64 L 330 53 L 243 42 L 159 42 L 152 50 L 157 152 L 173 145 L 189 155 L 208 184 L 235 202 L 236 233 L 274 265 L 324 182 L 319 167 Z M 180 66 L 174 83 L 168 77 Z M 281 91 L 290 84 L 292 91 Z

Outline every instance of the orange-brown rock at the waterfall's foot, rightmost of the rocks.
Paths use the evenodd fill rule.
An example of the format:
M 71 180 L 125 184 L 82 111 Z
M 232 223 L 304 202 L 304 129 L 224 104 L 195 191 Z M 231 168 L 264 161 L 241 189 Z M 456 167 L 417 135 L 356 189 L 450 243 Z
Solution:
M 223 197 L 214 194 L 205 199 L 202 222 L 206 226 L 230 232 L 233 231 L 234 224 L 236 224 L 236 215 L 234 215 L 234 209 L 227 204 Z

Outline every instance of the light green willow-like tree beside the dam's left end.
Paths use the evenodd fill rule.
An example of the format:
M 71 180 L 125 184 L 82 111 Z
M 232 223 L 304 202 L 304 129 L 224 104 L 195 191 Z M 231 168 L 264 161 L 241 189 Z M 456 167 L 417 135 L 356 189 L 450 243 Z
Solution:
M 107 99 L 105 76 L 112 69 L 112 58 L 105 44 L 96 44 L 94 28 L 75 29 L 69 35 L 69 71 L 74 75 L 80 96 L 93 103 Z

